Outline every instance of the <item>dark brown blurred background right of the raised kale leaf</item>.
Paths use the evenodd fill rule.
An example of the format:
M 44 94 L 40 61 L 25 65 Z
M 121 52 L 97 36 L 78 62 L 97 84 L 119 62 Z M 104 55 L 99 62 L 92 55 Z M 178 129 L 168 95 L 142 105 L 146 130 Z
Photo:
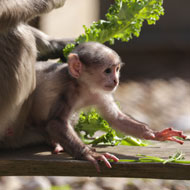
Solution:
M 100 17 L 113 0 L 100 1 Z M 190 79 L 190 1 L 165 0 L 165 15 L 156 25 L 143 24 L 140 37 L 110 46 L 126 63 L 121 80 L 172 77 Z

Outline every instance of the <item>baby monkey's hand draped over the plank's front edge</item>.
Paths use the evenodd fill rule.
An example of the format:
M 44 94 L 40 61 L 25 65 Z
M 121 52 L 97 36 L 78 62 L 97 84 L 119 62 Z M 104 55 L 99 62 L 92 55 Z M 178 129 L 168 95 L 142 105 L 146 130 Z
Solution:
M 84 159 L 93 163 L 98 172 L 100 172 L 100 166 L 98 164 L 98 160 L 103 161 L 108 168 L 112 167 L 108 159 L 111 159 L 114 162 L 119 161 L 119 159 L 112 154 L 109 154 L 109 153 L 100 154 L 100 153 L 97 153 L 95 150 L 91 150 L 91 149 L 85 152 Z

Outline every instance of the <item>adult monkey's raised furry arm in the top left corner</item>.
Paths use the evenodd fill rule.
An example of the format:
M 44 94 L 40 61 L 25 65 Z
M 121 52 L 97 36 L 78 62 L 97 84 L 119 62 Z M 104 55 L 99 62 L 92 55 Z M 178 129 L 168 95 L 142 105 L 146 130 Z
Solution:
M 0 0 L 0 31 L 58 8 L 64 2 L 65 0 Z

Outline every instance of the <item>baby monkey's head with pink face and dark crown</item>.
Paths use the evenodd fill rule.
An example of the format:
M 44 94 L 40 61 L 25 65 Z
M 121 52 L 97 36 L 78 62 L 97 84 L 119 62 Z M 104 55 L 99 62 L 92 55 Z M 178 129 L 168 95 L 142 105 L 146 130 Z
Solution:
M 121 59 L 98 42 L 78 45 L 68 56 L 69 72 L 88 88 L 112 92 L 119 84 Z

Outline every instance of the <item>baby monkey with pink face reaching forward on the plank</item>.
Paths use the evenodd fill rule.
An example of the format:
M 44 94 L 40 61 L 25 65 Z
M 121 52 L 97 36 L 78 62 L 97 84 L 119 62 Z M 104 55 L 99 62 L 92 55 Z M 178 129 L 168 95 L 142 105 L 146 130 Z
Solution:
M 120 111 L 112 97 L 119 84 L 120 57 L 110 48 L 96 42 L 78 45 L 68 56 L 67 64 L 37 65 L 37 88 L 31 110 L 31 124 L 44 126 L 48 138 L 60 144 L 77 159 L 91 161 L 99 171 L 97 160 L 118 159 L 99 154 L 84 145 L 70 123 L 72 114 L 83 107 L 93 106 L 116 129 L 135 137 L 152 140 L 185 138 L 182 132 L 165 129 L 154 132 Z

